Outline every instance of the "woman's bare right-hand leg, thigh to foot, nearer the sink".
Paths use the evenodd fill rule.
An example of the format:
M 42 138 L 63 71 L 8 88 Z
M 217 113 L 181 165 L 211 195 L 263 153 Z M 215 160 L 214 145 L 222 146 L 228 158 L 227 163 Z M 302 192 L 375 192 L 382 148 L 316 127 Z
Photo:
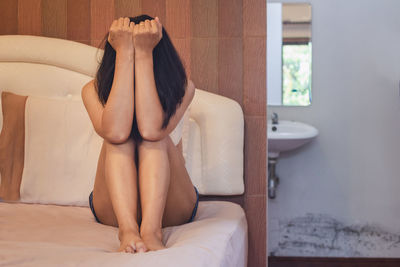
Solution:
M 140 235 L 150 250 L 165 248 L 161 228 L 187 222 L 196 202 L 182 153 L 167 136 L 143 141 L 139 152 Z

